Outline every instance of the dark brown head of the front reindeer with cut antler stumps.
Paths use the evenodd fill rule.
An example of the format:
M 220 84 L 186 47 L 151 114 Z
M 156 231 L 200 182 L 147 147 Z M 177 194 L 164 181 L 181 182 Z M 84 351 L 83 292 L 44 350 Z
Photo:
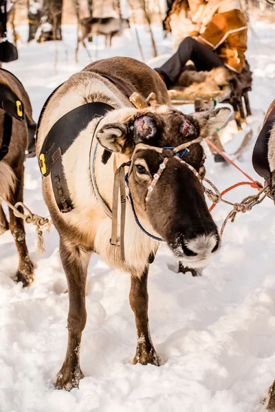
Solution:
M 210 137 L 229 113 L 228 108 L 192 115 L 183 115 L 168 106 L 123 108 L 108 113 L 96 135 L 106 150 L 121 157 L 118 164 L 125 157 L 131 159 L 129 189 L 137 217 L 147 220 L 186 266 L 203 266 L 219 248 L 219 235 L 194 173 L 194 169 L 203 170 L 203 148 L 192 144 L 184 156 L 186 163 L 181 163 L 170 148 L 199 136 Z M 113 123 L 112 119 L 118 122 Z M 148 187 L 162 163 L 166 163 L 165 168 L 148 196 Z

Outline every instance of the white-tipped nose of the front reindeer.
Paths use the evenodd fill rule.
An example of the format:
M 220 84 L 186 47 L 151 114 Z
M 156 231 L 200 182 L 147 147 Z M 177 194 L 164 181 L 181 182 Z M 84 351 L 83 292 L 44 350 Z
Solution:
M 186 256 L 208 258 L 211 253 L 219 249 L 219 236 L 217 233 L 198 235 L 190 240 L 184 239 L 181 244 Z

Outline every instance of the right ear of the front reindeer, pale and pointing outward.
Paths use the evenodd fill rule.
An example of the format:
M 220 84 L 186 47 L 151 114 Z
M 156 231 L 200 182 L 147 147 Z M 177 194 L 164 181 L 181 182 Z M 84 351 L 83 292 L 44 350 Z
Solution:
M 217 108 L 203 112 L 192 113 L 192 118 L 199 124 L 199 135 L 203 138 L 210 137 L 220 129 L 230 117 L 229 107 Z

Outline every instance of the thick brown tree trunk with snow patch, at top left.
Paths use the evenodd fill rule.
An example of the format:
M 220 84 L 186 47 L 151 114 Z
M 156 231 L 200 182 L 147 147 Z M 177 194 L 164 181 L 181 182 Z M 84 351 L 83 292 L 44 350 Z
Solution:
M 63 0 L 44 0 L 41 34 L 38 41 L 62 40 L 61 19 Z

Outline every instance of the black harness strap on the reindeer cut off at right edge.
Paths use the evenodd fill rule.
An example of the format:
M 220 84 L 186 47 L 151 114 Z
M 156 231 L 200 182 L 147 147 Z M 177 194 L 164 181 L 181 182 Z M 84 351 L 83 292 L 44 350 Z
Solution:
M 275 107 L 267 117 L 265 124 L 256 140 L 254 146 L 252 163 L 254 170 L 262 176 L 265 180 L 270 179 L 270 175 L 273 170 L 270 170 L 270 164 L 268 163 L 268 143 L 270 141 L 270 132 L 275 122 Z

